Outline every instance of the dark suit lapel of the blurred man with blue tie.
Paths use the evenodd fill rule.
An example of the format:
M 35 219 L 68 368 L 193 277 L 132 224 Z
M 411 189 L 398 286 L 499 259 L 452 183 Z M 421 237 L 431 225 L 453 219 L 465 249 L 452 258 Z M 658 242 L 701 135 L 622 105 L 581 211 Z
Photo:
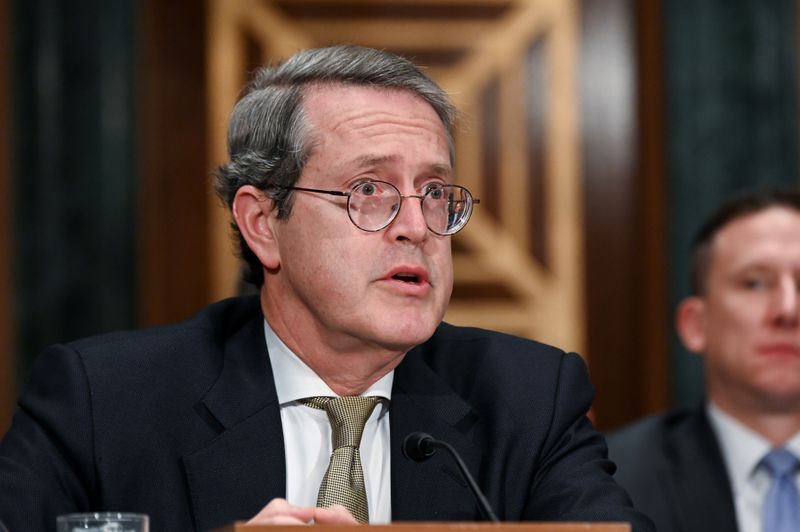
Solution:
M 671 486 L 668 496 L 680 511 L 679 530 L 737 530 L 730 481 L 716 437 L 698 409 L 686 423 L 676 427 L 667 442 L 671 468 L 664 472 Z

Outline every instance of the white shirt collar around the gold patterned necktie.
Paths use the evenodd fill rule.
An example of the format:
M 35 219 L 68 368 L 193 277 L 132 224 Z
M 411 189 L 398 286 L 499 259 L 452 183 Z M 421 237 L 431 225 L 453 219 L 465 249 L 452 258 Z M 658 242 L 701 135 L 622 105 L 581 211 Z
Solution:
M 267 320 L 264 320 L 264 337 L 281 406 L 306 397 L 336 397 L 325 381 L 278 338 Z M 362 395 L 391 399 L 393 382 L 394 370 L 372 384 Z

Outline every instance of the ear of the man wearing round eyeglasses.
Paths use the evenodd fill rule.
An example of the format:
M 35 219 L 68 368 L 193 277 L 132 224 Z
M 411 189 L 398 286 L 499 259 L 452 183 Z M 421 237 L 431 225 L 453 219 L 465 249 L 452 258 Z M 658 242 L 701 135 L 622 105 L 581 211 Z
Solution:
M 278 216 L 274 202 L 256 187 L 245 185 L 236 191 L 231 211 L 239 232 L 261 264 L 277 268 L 281 257 L 273 231 Z

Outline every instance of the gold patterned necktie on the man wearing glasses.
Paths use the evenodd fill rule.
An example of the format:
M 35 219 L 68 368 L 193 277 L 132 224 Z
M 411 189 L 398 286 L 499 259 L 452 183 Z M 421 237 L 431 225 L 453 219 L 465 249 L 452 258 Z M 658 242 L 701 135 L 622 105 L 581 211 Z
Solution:
M 378 398 L 309 397 L 302 402 L 327 412 L 331 423 L 333 453 L 319 487 L 317 507 L 341 504 L 361 523 L 368 523 L 367 491 L 358 447 L 361 445 L 364 424 L 378 404 Z

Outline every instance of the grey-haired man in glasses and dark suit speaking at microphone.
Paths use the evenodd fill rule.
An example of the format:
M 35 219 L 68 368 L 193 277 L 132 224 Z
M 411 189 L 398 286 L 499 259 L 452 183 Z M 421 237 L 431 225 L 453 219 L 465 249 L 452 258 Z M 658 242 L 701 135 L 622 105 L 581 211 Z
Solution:
M 0 446 L 0 519 L 12 531 L 89 510 L 169 531 L 479 519 L 447 455 L 403 456 L 424 431 L 461 453 L 501 520 L 649 530 L 586 418 L 580 357 L 442 323 L 450 235 L 477 202 L 452 183 L 454 116 L 427 76 L 377 50 L 259 70 L 216 181 L 259 297 L 46 350 Z M 363 493 L 343 505 L 324 499 L 350 438 L 335 436 L 334 403 L 371 405 L 360 445 L 345 445 L 343 489 Z

